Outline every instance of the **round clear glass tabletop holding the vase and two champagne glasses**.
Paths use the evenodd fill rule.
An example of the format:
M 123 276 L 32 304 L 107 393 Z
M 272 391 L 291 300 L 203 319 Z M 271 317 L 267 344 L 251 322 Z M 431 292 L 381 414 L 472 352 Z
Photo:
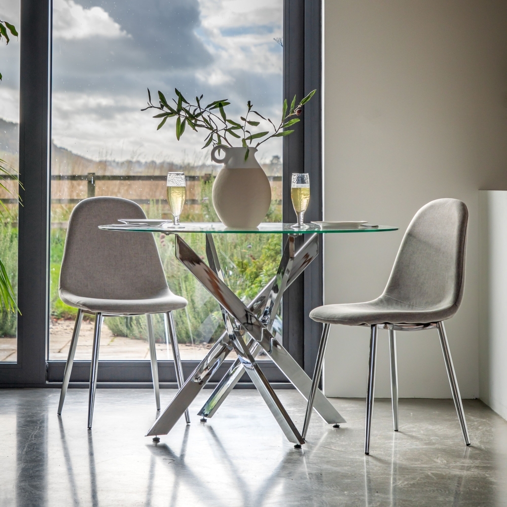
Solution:
M 386 232 L 397 231 L 398 228 L 387 225 L 361 224 L 357 226 L 327 225 L 321 227 L 316 224 L 305 224 L 306 229 L 294 228 L 296 224 L 284 224 L 281 222 L 264 222 L 258 227 L 232 229 L 226 227 L 222 222 L 187 222 L 174 226 L 172 222 L 167 221 L 147 221 L 139 220 L 128 224 L 110 224 L 101 225 L 99 229 L 105 231 L 128 231 L 128 232 L 162 232 L 165 234 L 183 234 L 187 232 L 219 233 L 219 234 L 324 234 L 324 233 L 356 233 L 356 232 Z M 297 226 L 296 226 L 297 227 Z

